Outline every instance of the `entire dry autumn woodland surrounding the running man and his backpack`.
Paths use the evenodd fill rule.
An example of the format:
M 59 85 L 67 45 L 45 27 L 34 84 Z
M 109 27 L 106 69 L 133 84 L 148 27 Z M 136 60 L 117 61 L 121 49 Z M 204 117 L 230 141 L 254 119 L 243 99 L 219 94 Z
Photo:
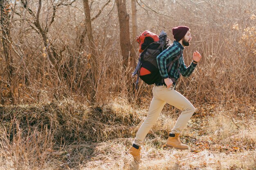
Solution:
M 255 0 L 1 0 L 1 169 L 255 169 Z M 151 89 L 131 73 L 136 36 L 186 25 L 202 60 L 177 91 L 195 106 L 188 151 L 164 146 L 166 104 L 142 149 L 126 150 Z M 170 163 L 172 164 L 170 165 Z

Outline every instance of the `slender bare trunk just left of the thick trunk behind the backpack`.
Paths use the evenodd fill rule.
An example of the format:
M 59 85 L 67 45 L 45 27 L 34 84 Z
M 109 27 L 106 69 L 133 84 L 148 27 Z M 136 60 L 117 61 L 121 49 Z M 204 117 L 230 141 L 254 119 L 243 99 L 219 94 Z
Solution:
M 87 32 L 87 37 L 89 40 L 89 46 L 91 53 L 91 69 L 92 69 L 92 95 L 91 95 L 91 102 L 95 101 L 96 97 L 96 89 L 97 89 L 97 83 L 96 83 L 96 73 L 97 73 L 97 67 L 96 67 L 96 52 L 95 52 L 95 43 L 92 36 L 92 21 L 91 21 L 91 14 L 90 14 L 90 7 L 88 0 L 83 0 L 83 7 L 85 10 L 85 29 L 87 29 L 85 32 Z

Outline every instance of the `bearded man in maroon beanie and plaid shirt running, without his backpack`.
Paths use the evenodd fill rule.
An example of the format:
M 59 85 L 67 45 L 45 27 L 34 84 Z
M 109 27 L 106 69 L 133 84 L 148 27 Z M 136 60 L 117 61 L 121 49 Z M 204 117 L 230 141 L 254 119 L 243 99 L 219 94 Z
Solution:
M 142 142 L 150 128 L 156 123 L 166 103 L 182 110 L 175 126 L 169 133 L 166 147 L 173 147 L 177 149 L 189 148 L 187 145 L 181 143 L 180 133 L 195 112 L 195 108 L 188 99 L 175 91 L 175 86 L 180 74 L 184 77 L 189 77 L 191 75 L 200 61 L 201 55 L 198 51 L 195 51 L 192 57 L 193 61 L 189 67 L 186 67 L 183 58 L 183 50 L 185 46 L 190 45 L 190 41 L 192 40 L 190 29 L 187 26 L 178 26 L 174 27 L 172 31 L 175 41 L 173 41 L 173 44 L 157 56 L 158 68 L 164 81 L 163 83 L 155 83 L 153 88 L 153 99 L 148 110 L 148 116 L 139 128 L 132 147 L 128 150 L 128 152 L 134 157 L 135 161 L 140 159 Z M 178 55 L 180 58 L 173 63 L 170 71 L 167 73 L 168 68 L 166 68 L 166 64 L 177 58 Z

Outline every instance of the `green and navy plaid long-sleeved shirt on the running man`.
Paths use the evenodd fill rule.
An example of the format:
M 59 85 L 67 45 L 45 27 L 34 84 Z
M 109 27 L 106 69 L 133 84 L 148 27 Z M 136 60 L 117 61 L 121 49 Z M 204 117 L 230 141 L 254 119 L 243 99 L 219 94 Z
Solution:
M 180 62 L 179 69 L 180 69 L 181 75 L 184 77 L 189 77 L 191 73 L 195 70 L 195 66 L 197 64 L 194 64 L 193 61 L 191 62 L 189 67 L 186 67 L 186 64 L 184 63 L 184 58 L 183 58 L 183 49 L 184 47 L 179 42 L 173 41 L 173 44 L 168 46 L 167 49 L 165 49 L 162 53 L 160 53 L 157 56 L 157 65 L 158 65 L 160 74 L 164 79 L 168 78 L 168 75 L 175 79 L 180 78 L 180 75 L 176 69 L 178 64 L 177 61 L 173 63 L 173 66 L 171 67 L 171 71 L 169 73 L 167 73 L 168 68 L 166 68 L 166 64 L 174 60 L 175 57 L 177 57 L 177 55 L 179 55 L 180 53 L 182 53 L 182 56 L 179 59 L 179 62 Z

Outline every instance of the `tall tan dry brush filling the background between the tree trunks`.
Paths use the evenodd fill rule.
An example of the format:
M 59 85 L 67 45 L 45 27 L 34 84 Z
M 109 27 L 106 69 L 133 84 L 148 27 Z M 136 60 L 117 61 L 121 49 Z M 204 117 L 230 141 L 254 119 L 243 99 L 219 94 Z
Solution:
M 252 2 L 163 0 L 165 5 L 159 6 L 158 2 L 150 1 L 147 3 L 148 7 L 168 16 L 159 15 L 143 4 L 141 7 L 138 5 L 138 31 L 148 29 L 159 33 L 165 30 L 172 40 L 173 26 L 187 25 L 191 28 L 193 39 L 191 46 L 184 50 L 185 63 L 190 64 L 191 54 L 195 50 L 203 57 L 195 73 L 189 79 L 180 80 L 179 90 L 186 97 L 194 99 L 197 103 L 238 104 L 240 98 L 255 102 L 256 17 L 255 3 Z M 130 2 L 127 3 L 130 12 Z M 52 16 L 53 11 L 50 9 L 52 2 L 43 1 L 42 4 L 40 22 L 44 26 L 51 21 L 49 16 Z M 34 13 L 37 11 L 37 1 L 30 1 L 28 6 Z M 111 98 L 118 96 L 128 96 L 127 87 L 124 86 L 126 77 L 122 73 L 118 16 L 114 2 L 111 1 L 92 22 L 97 46 L 95 73 L 90 69 L 92 59 L 86 45 L 87 39 L 85 38 L 85 44 L 81 44 L 84 30 L 81 3 L 59 6 L 56 18 L 49 28 L 49 42 L 62 56 L 57 63 L 59 70 L 54 70 L 54 66 L 49 62 L 40 34 L 31 28 L 33 24 L 29 21 L 32 21 L 33 17 L 29 13 L 22 14 L 26 10 L 22 8 L 21 2 L 17 2 L 16 7 L 16 13 L 10 11 L 9 15 L 13 14 L 10 26 L 13 44 L 10 52 L 13 57 L 12 66 L 18 71 L 14 79 L 14 95 L 18 103 L 43 102 L 45 98 L 52 100 L 67 96 L 72 96 L 78 101 L 90 100 L 92 88 L 97 88 L 96 105 L 105 105 Z M 99 12 L 98 7 L 101 7 L 100 2 L 92 1 L 92 17 Z M 131 40 L 133 39 L 132 37 Z M 62 51 L 63 49 L 65 50 Z M 1 101 L 7 104 L 11 87 L 4 66 L 6 61 L 3 57 L 0 60 Z M 133 69 L 134 67 L 131 67 L 129 72 Z M 58 72 L 63 73 L 63 77 L 59 77 Z M 97 77 L 96 82 L 91 82 L 90 77 L 93 74 Z M 150 89 L 151 86 L 140 82 L 140 90 L 135 92 L 134 101 L 150 101 Z

